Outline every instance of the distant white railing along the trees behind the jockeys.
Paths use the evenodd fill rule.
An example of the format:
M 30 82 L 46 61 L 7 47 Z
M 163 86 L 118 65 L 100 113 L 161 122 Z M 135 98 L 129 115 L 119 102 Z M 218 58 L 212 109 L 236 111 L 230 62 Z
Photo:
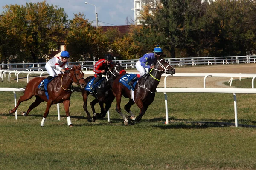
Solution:
M 255 63 L 256 56 L 229 56 L 229 57 L 191 57 L 191 58 L 166 58 L 172 66 L 182 67 L 184 65 L 217 65 L 217 64 L 241 64 Z M 125 69 L 135 68 L 138 59 L 114 60 L 119 62 Z M 69 65 L 80 64 L 82 70 L 92 71 L 97 61 L 69 62 Z M 45 71 L 45 62 L 40 63 L 9 63 L 0 64 L 0 70 L 20 70 L 20 71 Z

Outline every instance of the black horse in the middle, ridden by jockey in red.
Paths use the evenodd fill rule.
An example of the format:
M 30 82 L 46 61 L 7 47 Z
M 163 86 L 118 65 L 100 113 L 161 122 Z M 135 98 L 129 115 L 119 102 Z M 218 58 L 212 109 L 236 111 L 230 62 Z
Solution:
M 113 63 L 113 66 L 110 68 L 109 71 L 106 73 L 106 79 L 102 81 L 102 84 L 100 85 L 99 88 L 96 89 L 97 93 L 92 94 L 95 99 L 90 102 L 90 106 L 93 111 L 93 118 L 91 118 L 90 113 L 88 112 L 87 109 L 87 99 L 89 95 L 89 91 L 85 90 L 83 88 L 82 91 L 82 96 L 84 100 L 84 111 L 87 113 L 87 121 L 88 122 L 95 122 L 96 118 L 102 118 L 106 116 L 107 111 L 111 107 L 111 104 L 113 100 L 115 99 L 115 96 L 113 95 L 112 92 L 112 83 L 116 77 L 120 75 L 120 73 L 125 72 L 124 68 L 119 64 L 119 63 Z M 94 76 L 89 76 L 85 79 L 85 82 L 88 83 Z M 100 105 L 100 113 L 96 113 L 94 109 L 94 105 L 96 105 L 99 102 Z M 105 104 L 105 107 L 104 107 Z

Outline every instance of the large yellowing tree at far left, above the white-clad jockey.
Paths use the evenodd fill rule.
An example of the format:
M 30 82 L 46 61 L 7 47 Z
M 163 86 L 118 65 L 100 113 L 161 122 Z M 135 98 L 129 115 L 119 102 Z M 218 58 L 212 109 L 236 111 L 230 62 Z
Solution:
M 1 22 L 8 28 L 7 35 L 15 37 L 20 50 L 28 56 L 19 59 L 37 62 L 56 48 L 65 33 L 67 14 L 58 6 L 43 1 L 26 6 L 6 5 L 4 9 Z

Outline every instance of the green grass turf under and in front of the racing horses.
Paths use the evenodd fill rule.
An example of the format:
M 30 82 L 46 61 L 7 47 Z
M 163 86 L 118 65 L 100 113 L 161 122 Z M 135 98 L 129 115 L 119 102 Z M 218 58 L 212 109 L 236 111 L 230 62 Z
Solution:
M 250 80 L 249 80 L 250 81 Z M 233 81 L 235 85 L 236 81 Z M 251 82 L 250 82 L 251 83 Z M 0 82 L 0 87 L 24 87 L 26 82 Z M 251 84 L 250 84 L 251 86 Z M 250 88 L 250 87 L 249 87 Z M 12 92 L 0 92 L 0 164 L 2 169 L 256 169 L 256 129 L 182 123 L 218 121 L 234 123 L 233 94 L 167 93 L 169 125 L 164 125 L 164 95 L 157 93 L 140 123 L 124 126 L 111 106 L 111 123 L 87 122 L 80 92 L 71 96 L 73 128 L 61 120 L 52 105 L 40 127 L 46 102 L 21 116 L 34 101 L 21 103 L 18 119 Z M 17 99 L 22 93 L 17 93 Z M 88 108 L 90 101 L 88 99 Z M 128 102 L 122 98 L 123 106 Z M 256 125 L 255 94 L 237 94 L 239 124 Z M 136 105 L 131 110 L 136 113 Z M 122 111 L 125 113 L 124 109 Z M 99 106 L 96 105 L 96 112 Z M 173 123 L 175 122 L 175 123 Z

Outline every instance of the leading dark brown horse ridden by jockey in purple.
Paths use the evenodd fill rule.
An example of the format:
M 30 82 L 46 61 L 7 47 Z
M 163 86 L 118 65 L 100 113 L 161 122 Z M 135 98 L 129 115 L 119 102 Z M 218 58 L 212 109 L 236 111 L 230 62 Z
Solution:
M 124 124 L 128 125 L 128 119 L 140 121 L 142 116 L 148 109 L 148 106 L 154 101 L 155 92 L 157 85 L 160 82 L 161 75 L 163 73 L 166 74 L 175 74 L 175 69 L 172 68 L 169 63 L 161 59 L 157 61 L 155 68 L 152 68 L 150 73 L 145 77 L 138 79 L 138 83 L 134 88 L 134 99 L 131 97 L 131 91 L 122 83 L 119 82 L 119 79 L 124 75 L 120 75 L 117 77 L 112 85 L 112 91 L 114 96 L 116 97 L 116 111 L 122 116 L 124 119 Z M 131 115 L 123 115 L 120 108 L 122 95 L 125 98 L 129 98 L 129 102 L 125 105 L 125 110 Z M 130 108 L 132 105 L 136 105 L 140 108 L 140 113 L 137 117 L 131 112 Z

